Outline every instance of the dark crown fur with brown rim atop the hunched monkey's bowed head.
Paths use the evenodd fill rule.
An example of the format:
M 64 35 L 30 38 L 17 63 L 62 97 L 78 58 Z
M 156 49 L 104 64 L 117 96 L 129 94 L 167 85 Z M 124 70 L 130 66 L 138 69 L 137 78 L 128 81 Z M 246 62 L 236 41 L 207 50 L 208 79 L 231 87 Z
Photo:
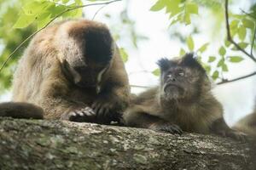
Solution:
M 69 36 L 83 47 L 86 60 L 107 63 L 113 57 L 113 38 L 107 26 L 95 21 L 81 21 L 74 24 Z

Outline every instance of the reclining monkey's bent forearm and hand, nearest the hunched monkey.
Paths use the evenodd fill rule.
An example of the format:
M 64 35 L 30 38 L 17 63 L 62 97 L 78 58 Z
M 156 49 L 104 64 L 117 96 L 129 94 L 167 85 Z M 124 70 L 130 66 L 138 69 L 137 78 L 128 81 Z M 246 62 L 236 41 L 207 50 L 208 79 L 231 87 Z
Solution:
M 183 133 L 182 129 L 171 122 L 166 122 L 158 116 L 145 112 L 141 105 L 132 105 L 123 115 L 123 122 L 130 127 L 149 128 L 157 132 Z

